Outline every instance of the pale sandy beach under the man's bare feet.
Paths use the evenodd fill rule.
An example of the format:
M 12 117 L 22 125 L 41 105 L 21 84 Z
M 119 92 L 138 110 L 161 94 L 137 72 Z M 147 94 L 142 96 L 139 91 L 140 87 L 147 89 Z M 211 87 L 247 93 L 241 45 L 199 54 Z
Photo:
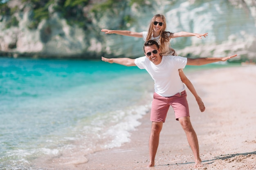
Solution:
M 42 163 L 54 170 L 255 170 L 256 66 L 215 68 L 186 75 L 206 106 L 201 113 L 186 90 L 203 167 L 193 168 L 191 148 L 172 108 L 161 132 L 153 168 L 146 168 L 150 113 L 131 132 L 131 141 L 119 148 L 87 155 L 87 162 L 81 164 L 63 163 L 58 158 Z

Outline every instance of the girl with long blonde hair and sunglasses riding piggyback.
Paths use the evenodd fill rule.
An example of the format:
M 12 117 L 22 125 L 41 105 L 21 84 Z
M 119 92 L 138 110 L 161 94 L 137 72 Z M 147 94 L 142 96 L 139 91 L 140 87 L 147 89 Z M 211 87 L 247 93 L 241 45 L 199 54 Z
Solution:
M 204 34 L 188 33 L 185 31 L 178 32 L 178 33 L 171 33 L 171 32 L 165 31 L 165 29 L 166 29 L 166 19 L 164 15 L 156 14 L 151 19 L 150 26 L 147 32 L 144 31 L 141 33 L 137 33 L 132 31 L 120 31 L 120 30 L 108 30 L 108 29 L 101 29 L 101 31 L 107 34 L 115 33 L 119 35 L 143 38 L 144 41 L 155 40 L 159 44 L 160 49 L 162 51 L 161 55 L 177 55 L 175 50 L 169 46 L 171 38 L 196 36 L 197 38 L 202 39 L 202 36 L 206 37 L 208 34 L 208 33 L 204 33 Z M 194 95 L 200 111 L 203 112 L 205 110 L 204 103 L 202 102 L 202 99 L 199 97 L 199 95 L 195 91 L 193 84 L 186 77 L 182 69 L 179 69 L 179 74 L 182 82 L 187 86 L 189 91 L 191 91 L 191 93 Z

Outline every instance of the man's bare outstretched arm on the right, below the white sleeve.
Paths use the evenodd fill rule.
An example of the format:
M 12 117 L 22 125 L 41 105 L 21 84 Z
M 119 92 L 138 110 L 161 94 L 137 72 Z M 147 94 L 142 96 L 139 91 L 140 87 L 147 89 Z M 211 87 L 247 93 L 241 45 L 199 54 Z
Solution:
M 228 57 L 209 57 L 209 58 L 188 58 L 186 65 L 201 66 L 204 64 L 210 64 L 213 62 L 225 62 L 230 58 L 236 57 L 237 55 L 231 55 Z

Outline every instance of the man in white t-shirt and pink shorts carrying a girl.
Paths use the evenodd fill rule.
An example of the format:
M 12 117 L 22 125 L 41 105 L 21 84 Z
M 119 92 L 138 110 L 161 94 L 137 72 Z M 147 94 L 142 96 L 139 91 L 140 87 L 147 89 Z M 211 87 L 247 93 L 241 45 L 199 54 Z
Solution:
M 138 66 L 146 69 L 155 81 L 155 93 L 151 107 L 150 120 L 152 121 L 149 137 L 149 157 L 148 167 L 155 165 L 155 155 L 159 144 L 159 135 L 162 130 L 170 105 L 175 112 L 176 120 L 186 133 L 189 145 L 194 155 L 195 168 L 202 166 L 199 155 L 198 138 L 192 127 L 189 117 L 189 106 L 186 100 L 185 86 L 182 83 L 178 69 L 186 65 L 204 65 L 213 62 L 226 61 L 237 55 L 218 58 L 195 58 L 190 59 L 180 56 L 162 56 L 159 45 L 154 40 L 149 40 L 144 44 L 144 54 L 146 56 L 136 59 L 130 58 L 105 58 L 101 60 L 109 63 L 117 63 L 124 66 Z

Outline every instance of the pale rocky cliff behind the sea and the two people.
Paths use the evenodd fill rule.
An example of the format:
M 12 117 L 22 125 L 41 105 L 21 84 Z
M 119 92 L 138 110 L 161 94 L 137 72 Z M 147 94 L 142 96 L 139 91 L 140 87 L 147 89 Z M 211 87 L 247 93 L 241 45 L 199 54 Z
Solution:
M 54 11 L 56 7 L 52 4 L 47 9 L 50 17 L 40 20 L 36 28 L 31 29 L 33 11 L 29 3 L 9 0 L 9 7 L 18 8 L 12 14 L 18 24 L 7 28 L 8 17 L 0 16 L 1 55 L 85 59 L 99 59 L 101 55 L 139 57 L 143 55 L 142 39 L 104 34 L 101 28 L 147 31 L 153 15 L 163 13 L 167 31 L 208 32 L 208 37 L 202 40 L 195 37 L 171 40 L 179 55 L 211 57 L 237 53 L 238 59 L 256 60 L 254 0 L 148 0 L 140 4 L 117 1 L 104 10 L 99 9 L 101 3 L 106 1 L 93 1 L 83 7 L 83 14 L 90 18 L 90 22 L 85 21 L 86 28 L 70 24 L 69 19 Z M 97 5 L 97 12 L 92 12 L 92 6 Z

